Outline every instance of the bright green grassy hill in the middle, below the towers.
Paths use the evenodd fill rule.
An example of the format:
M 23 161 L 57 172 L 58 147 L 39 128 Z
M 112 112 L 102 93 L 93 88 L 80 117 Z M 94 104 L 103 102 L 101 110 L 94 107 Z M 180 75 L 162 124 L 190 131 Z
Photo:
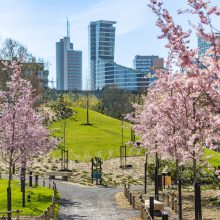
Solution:
M 121 121 L 89 111 L 90 125 L 86 123 L 86 109 L 73 108 L 76 114 L 67 119 L 66 146 L 69 149 L 69 159 L 89 161 L 98 156 L 102 159 L 110 159 L 120 156 L 122 144 Z M 64 120 L 54 122 L 50 126 L 56 136 L 63 137 Z M 131 125 L 124 123 L 124 142 L 130 141 Z M 128 155 L 140 154 L 128 148 Z M 52 155 L 60 158 L 60 150 L 55 150 Z

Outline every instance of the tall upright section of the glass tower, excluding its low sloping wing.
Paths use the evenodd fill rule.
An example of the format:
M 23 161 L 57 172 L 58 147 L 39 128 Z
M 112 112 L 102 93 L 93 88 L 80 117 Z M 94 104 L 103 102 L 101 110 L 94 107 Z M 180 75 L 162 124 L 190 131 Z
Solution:
M 115 51 L 115 21 L 95 21 L 89 24 L 89 61 L 91 89 L 100 88 L 100 78 L 108 76 L 100 75 L 103 62 L 114 62 Z

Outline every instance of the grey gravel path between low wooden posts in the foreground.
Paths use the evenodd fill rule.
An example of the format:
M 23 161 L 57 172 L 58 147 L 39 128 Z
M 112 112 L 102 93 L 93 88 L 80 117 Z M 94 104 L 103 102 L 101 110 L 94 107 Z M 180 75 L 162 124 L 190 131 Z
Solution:
M 120 209 L 114 195 L 122 188 L 85 187 L 56 181 L 61 194 L 59 220 L 126 220 L 138 210 Z

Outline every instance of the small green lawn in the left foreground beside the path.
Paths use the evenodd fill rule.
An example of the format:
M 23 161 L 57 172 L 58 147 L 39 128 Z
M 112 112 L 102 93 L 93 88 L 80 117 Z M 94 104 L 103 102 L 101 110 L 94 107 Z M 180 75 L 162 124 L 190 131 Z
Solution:
M 8 180 L 0 179 L 0 211 L 7 211 L 7 184 Z M 29 188 L 26 187 L 26 199 L 28 193 L 31 195 L 31 201 L 22 207 L 22 193 L 20 192 L 20 182 L 12 181 L 12 210 L 22 210 L 20 215 L 39 216 L 43 214 L 48 206 L 51 205 L 53 190 L 45 187 Z

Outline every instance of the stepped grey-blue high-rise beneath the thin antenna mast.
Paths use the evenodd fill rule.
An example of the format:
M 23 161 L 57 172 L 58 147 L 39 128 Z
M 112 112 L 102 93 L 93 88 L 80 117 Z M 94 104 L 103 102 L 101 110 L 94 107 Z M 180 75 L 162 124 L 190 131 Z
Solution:
M 56 81 L 57 90 L 82 90 L 82 51 L 68 35 L 56 43 Z

